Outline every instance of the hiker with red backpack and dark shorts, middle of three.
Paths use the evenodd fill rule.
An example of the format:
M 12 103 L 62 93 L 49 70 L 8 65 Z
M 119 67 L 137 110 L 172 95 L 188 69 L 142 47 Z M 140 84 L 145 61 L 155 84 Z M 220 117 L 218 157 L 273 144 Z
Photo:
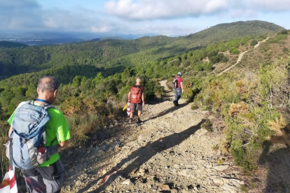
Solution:
M 138 110 L 138 122 L 141 123 L 141 113 L 142 107 L 144 106 L 144 87 L 141 86 L 141 77 L 137 77 L 136 84 L 131 87 L 131 90 L 128 94 L 128 100 L 131 101 L 131 114 L 129 118 L 129 123 L 132 123 L 133 113 L 135 109 Z

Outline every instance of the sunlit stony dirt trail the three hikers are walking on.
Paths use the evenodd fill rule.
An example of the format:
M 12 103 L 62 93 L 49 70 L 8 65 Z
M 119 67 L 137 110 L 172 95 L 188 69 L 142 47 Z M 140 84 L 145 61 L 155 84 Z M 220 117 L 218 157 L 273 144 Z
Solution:
M 62 192 L 240 192 L 240 172 L 215 147 L 222 134 L 201 129 L 206 112 L 174 95 L 144 107 L 142 124 L 114 122 L 118 134 L 102 146 L 64 156 Z M 100 180 L 106 180 L 99 185 Z

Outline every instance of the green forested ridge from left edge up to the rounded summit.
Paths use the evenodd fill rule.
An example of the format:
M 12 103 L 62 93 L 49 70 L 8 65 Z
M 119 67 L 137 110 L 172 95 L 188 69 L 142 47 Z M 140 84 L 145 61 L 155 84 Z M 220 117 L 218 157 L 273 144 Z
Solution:
M 98 68 L 135 66 L 156 62 L 220 41 L 275 34 L 283 28 L 261 21 L 219 24 L 189 36 L 143 37 L 135 40 L 104 40 L 64 45 L 0 49 L 0 80 L 19 73 L 41 71 L 65 65 L 93 65 Z

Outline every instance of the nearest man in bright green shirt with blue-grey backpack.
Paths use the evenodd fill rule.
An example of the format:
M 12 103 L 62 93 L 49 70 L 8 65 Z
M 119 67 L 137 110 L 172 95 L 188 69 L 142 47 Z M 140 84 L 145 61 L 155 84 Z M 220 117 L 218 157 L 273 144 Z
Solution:
M 44 76 L 37 86 L 38 99 L 20 103 L 8 120 L 11 164 L 21 169 L 29 193 L 60 192 L 64 185 L 58 147 L 64 147 L 71 134 L 62 112 L 51 106 L 59 87 L 55 78 Z

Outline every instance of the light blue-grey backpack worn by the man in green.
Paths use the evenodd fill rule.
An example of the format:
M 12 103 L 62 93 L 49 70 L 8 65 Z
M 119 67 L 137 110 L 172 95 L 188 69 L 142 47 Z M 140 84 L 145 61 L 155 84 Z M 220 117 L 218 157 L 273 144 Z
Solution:
M 34 106 L 33 101 L 15 110 L 12 127 L 13 131 L 6 144 L 6 155 L 12 164 L 19 169 L 34 169 L 57 152 L 57 145 L 46 147 L 45 125 L 50 116 L 48 104 Z

